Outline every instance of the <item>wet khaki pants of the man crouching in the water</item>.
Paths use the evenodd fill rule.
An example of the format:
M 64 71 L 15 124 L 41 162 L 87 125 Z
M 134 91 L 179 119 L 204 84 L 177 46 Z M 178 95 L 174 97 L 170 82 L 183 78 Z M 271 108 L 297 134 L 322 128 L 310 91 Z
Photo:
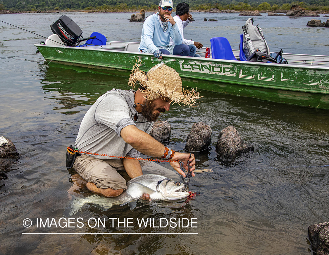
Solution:
M 169 170 L 159 163 L 145 160 L 140 160 L 139 163 L 144 175 L 163 175 L 174 180 L 180 180 L 180 175 L 175 170 Z M 125 173 L 121 159 L 98 159 L 82 154 L 75 159 L 73 168 L 85 180 L 95 183 L 97 188 L 112 188 L 114 190 L 127 188 L 126 180 L 117 172 L 124 171 Z

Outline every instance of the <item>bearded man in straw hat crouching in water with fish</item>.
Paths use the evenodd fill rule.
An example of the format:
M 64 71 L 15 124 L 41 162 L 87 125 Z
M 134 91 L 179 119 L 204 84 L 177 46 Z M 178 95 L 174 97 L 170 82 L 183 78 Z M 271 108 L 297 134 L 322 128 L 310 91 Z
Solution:
M 86 186 L 90 191 L 106 197 L 118 196 L 127 188 L 117 170 L 126 171 L 134 178 L 143 175 L 147 165 L 154 170 L 160 168 L 155 162 L 140 163 L 135 159 L 140 153 L 170 160 L 173 169 L 184 177 L 176 160 L 182 161 L 185 169 L 190 160 L 190 171 L 195 169 L 193 154 L 175 152 L 148 133 L 153 121 L 161 112 L 168 111 L 171 103 L 192 106 L 200 98 L 199 93 L 182 91 L 179 74 L 163 63 L 151 68 L 147 75 L 139 70 L 139 64 L 129 78 L 133 89 L 139 81 L 139 89 L 113 89 L 98 98 L 84 116 L 75 141 L 79 151 L 93 154 L 82 153 L 76 157 L 73 168 L 88 181 Z M 149 196 L 144 194 L 143 199 Z

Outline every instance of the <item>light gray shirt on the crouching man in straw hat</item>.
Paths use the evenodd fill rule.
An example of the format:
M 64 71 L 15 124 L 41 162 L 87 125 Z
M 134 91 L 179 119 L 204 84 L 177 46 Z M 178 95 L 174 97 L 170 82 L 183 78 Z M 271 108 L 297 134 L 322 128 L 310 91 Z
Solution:
M 150 133 L 153 122 L 136 111 L 134 90 L 113 89 L 97 99 L 84 116 L 75 145 L 80 151 L 112 155 L 139 157 L 140 152 L 126 143 L 120 136 L 121 130 L 135 125 L 139 130 Z M 134 116 L 138 119 L 135 122 Z M 91 155 L 99 159 L 115 157 Z

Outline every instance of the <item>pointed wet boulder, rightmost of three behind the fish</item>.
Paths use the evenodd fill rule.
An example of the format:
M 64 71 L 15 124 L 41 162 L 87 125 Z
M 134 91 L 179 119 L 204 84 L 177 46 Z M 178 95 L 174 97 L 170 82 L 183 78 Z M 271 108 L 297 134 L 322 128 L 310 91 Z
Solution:
M 249 151 L 254 151 L 254 146 L 243 143 L 235 127 L 228 126 L 219 133 L 216 153 L 221 160 L 231 161 Z

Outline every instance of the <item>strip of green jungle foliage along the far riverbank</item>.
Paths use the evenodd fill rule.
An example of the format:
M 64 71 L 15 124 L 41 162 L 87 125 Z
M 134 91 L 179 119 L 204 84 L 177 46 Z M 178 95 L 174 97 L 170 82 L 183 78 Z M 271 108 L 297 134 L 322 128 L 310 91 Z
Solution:
M 289 10 L 292 4 L 298 4 L 307 10 L 329 10 L 329 0 L 182 0 L 174 1 L 174 6 L 185 1 L 191 10 L 207 11 L 211 8 L 219 10 Z M 155 11 L 159 0 L 0 0 L 0 10 L 12 11 L 56 11 L 87 10 L 99 12 L 135 12 L 141 9 Z

